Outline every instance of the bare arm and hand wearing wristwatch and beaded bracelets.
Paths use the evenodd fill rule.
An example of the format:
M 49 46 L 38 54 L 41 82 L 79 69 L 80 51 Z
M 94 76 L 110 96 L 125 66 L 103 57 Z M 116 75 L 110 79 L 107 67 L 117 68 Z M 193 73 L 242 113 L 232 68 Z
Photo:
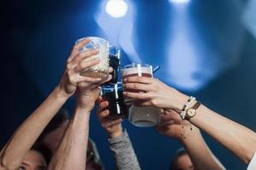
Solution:
M 145 99 L 146 101 L 141 104 L 144 106 L 155 105 L 160 108 L 170 108 L 180 113 L 184 103 L 189 98 L 154 78 L 128 77 L 125 84 L 128 89 L 147 91 L 145 94 L 125 92 L 128 97 Z M 252 159 L 256 150 L 256 133 L 249 128 L 218 115 L 204 105 L 200 106 L 196 116 L 191 118 L 190 122 L 210 134 L 245 163 Z

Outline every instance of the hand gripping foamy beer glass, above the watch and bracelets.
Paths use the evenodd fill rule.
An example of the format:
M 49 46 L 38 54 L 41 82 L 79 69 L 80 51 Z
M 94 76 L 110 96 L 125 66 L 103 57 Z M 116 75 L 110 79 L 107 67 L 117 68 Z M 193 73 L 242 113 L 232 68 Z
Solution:
M 143 101 L 140 106 L 154 105 L 159 108 L 181 111 L 188 97 L 164 82 L 151 77 L 127 77 L 123 80 L 126 97 Z M 143 91 L 144 93 L 136 93 Z

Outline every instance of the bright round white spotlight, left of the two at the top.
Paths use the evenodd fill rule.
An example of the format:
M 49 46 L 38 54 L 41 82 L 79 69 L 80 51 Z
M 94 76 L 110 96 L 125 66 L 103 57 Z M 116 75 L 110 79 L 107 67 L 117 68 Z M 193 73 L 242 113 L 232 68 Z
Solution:
M 113 18 L 125 16 L 128 5 L 124 0 L 108 0 L 105 10 Z

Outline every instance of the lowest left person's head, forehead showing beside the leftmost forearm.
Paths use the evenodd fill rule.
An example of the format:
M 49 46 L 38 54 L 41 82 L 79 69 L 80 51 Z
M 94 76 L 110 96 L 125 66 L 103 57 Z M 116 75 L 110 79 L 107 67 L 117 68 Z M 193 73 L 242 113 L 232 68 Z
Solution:
M 49 148 L 44 144 L 34 144 L 24 156 L 19 170 L 46 170 L 52 156 Z

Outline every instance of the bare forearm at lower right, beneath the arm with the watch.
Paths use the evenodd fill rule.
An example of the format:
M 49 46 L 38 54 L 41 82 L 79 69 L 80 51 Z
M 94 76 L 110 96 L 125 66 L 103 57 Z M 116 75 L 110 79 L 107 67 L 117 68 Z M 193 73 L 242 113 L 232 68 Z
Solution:
M 212 151 L 208 148 L 197 127 L 193 127 L 192 131 L 187 129 L 185 132 L 186 138 L 181 139 L 181 141 L 188 151 L 195 169 L 225 169 L 212 154 Z

